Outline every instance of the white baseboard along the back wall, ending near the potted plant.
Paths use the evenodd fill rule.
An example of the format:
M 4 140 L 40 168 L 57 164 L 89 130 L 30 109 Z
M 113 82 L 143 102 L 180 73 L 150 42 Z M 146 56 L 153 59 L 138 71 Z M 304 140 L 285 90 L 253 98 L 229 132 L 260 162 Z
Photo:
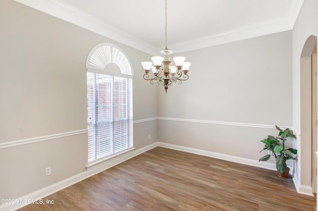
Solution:
M 221 153 L 214 153 L 206 150 L 199 150 L 199 149 L 194 149 L 194 148 L 189 148 L 189 147 L 183 147 L 179 145 L 173 145 L 173 144 L 166 144 L 162 142 L 158 142 L 159 147 L 164 147 L 172 150 L 178 150 L 182 152 L 187 152 L 187 153 L 193 153 L 196 155 L 201 155 L 201 156 L 207 156 L 211 158 L 217 158 L 217 159 L 222 159 L 222 160 L 227 160 L 231 162 L 237 162 L 245 165 L 251 165 L 255 167 L 260 167 L 260 168 L 266 168 L 270 170 L 276 170 L 276 165 L 275 163 L 269 163 L 269 162 L 258 162 L 258 160 L 254 159 L 248 159 L 248 158 L 240 158 L 236 156 L 230 156 L 226 154 L 221 154 Z

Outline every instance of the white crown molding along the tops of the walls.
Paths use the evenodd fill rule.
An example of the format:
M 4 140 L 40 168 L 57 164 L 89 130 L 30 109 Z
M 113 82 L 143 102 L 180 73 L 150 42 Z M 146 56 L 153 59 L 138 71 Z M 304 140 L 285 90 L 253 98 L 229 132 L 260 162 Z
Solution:
M 119 30 L 101 19 L 89 15 L 75 7 L 62 3 L 59 0 L 15 0 L 62 20 L 68 21 L 82 28 L 135 48 L 152 55 L 158 54 L 160 49 L 151 46 L 136 37 L 127 36 L 126 33 Z M 193 51 L 197 49 L 207 48 L 211 46 L 231 43 L 239 40 L 249 39 L 253 37 L 268 35 L 277 32 L 292 30 L 300 12 L 304 0 L 295 0 L 291 7 L 290 13 L 285 18 L 274 19 L 237 28 L 232 31 L 213 34 L 210 36 L 199 37 L 187 42 L 170 44 L 170 48 L 174 53 Z

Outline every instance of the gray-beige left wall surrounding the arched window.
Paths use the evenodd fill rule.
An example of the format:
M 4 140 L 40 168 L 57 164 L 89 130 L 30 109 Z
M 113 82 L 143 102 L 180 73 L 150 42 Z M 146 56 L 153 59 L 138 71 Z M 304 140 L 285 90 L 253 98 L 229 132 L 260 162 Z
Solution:
M 0 26 L 1 199 L 16 199 L 86 171 L 87 133 L 56 137 L 87 129 L 85 62 L 95 45 L 112 43 L 128 55 L 134 120 L 157 116 L 157 88 L 142 79 L 141 61 L 149 54 L 13 0 L 1 0 Z M 137 149 L 157 141 L 156 120 L 134 126 Z M 43 136 L 48 140 L 39 142 Z M 9 145 L 28 140 L 34 143 Z M 46 177 L 49 166 L 52 174 Z

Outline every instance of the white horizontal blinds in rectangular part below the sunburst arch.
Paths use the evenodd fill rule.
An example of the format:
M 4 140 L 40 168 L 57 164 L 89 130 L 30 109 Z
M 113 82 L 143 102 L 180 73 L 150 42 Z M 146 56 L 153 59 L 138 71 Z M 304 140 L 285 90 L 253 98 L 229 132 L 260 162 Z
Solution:
M 88 162 L 133 147 L 132 79 L 87 72 Z

